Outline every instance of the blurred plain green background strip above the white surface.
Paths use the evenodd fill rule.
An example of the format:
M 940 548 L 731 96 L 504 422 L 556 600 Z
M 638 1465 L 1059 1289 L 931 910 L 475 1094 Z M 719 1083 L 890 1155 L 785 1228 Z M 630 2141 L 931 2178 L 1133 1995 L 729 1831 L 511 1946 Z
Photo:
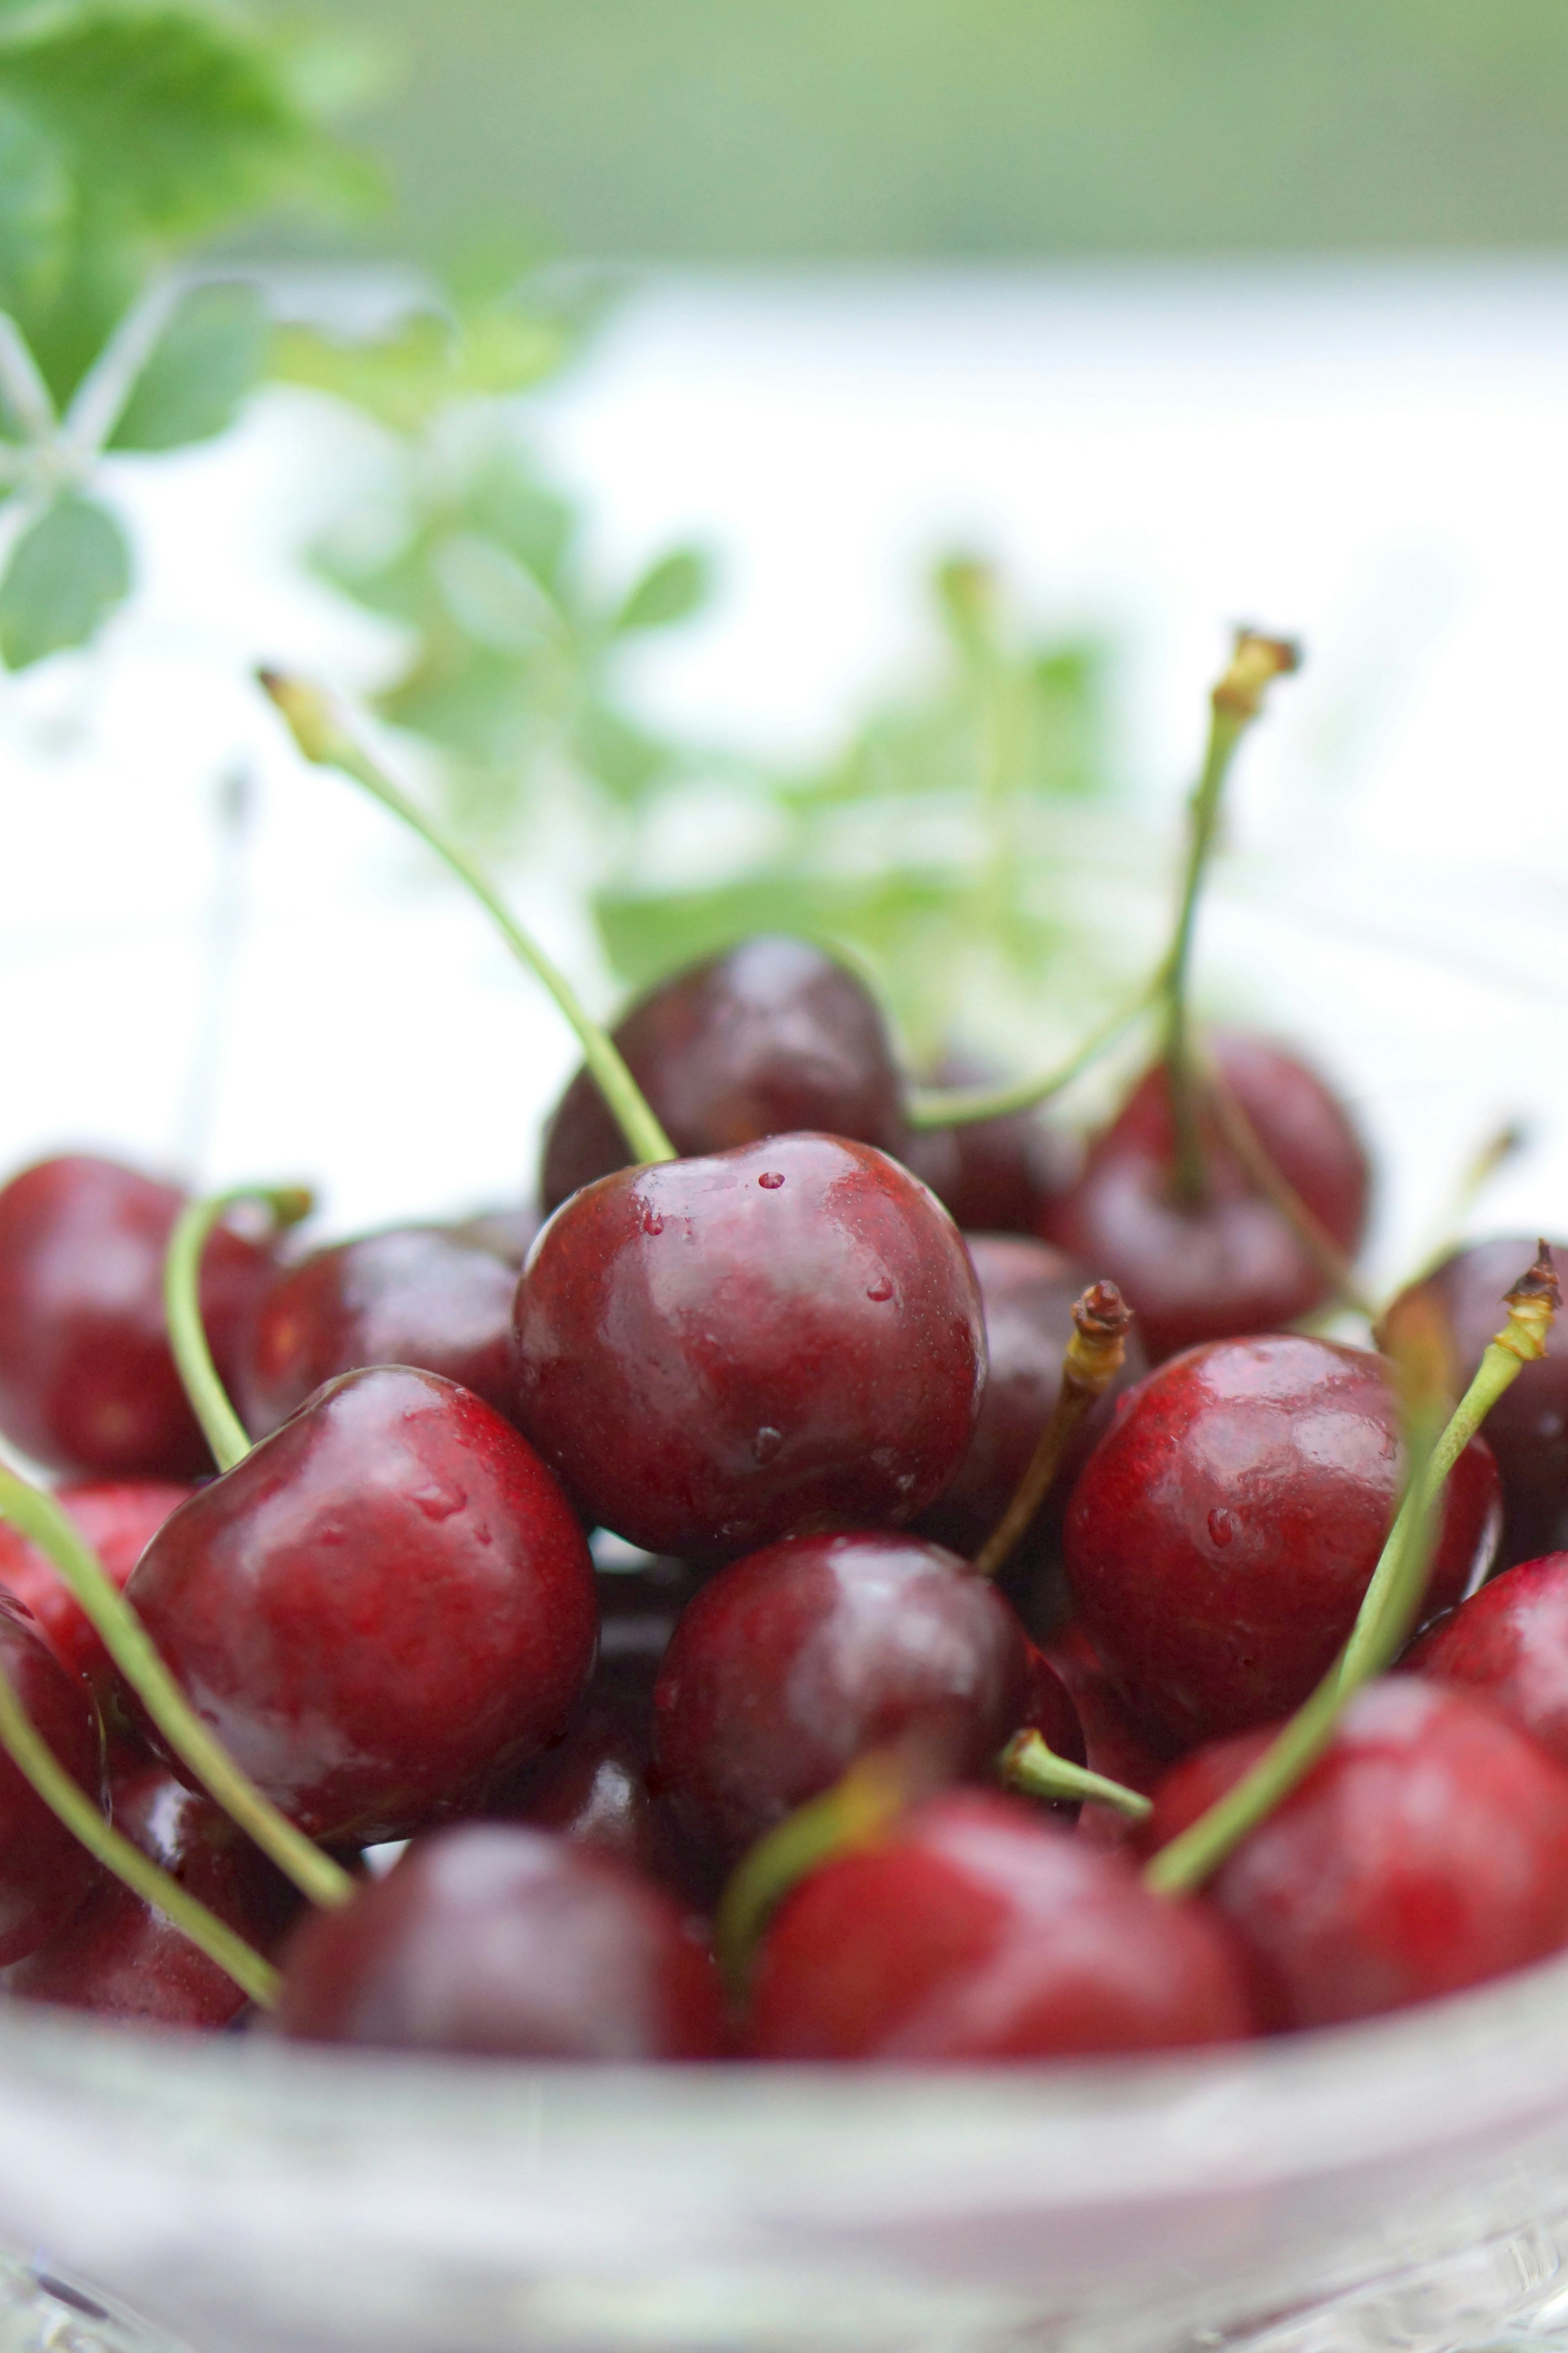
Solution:
M 284 0 L 277 0 L 284 5 Z M 397 235 L 658 259 L 1559 242 L 1561 0 L 329 0 Z

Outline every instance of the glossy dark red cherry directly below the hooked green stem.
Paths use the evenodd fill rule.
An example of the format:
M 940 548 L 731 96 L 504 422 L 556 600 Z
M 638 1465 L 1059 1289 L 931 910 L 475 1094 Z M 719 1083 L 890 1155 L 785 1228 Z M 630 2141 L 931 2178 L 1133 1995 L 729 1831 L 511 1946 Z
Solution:
M 534 1449 L 433 1372 L 348 1372 L 153 1537 L 129 1600 L 294 1821 L 371 1845 L 564 1729 L 597 1607 Z

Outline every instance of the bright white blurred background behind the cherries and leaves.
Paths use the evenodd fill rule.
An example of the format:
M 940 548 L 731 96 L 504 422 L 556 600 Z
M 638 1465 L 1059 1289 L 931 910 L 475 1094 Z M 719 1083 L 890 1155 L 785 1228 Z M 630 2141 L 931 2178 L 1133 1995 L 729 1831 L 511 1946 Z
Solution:
M 1385 1278 L 1505 1118 L 1530 1146 L 1472 1231 L 1568 1226 L 1568 264 L 654 273 L 529 407 L 607 576 L 717 551 L 712 616 L 637 656 L 644 708 L 710 741 L 832 744 L 919 666 L 919 572 L 964 544 L 1039 624 L 1121 642 L 1117 758 L 1175 840 L 1227 626 L 1300 635 L 1237 769 L 1201 1000 L 1342 1082 Z M 562 1024 L 249 682 L 388 675 L 390 631 L 301 565 L 374 466 L 287 391 L 155 482 L 113 461 L 132 605 L 0 682 L 7 1167 L 306 1176 L 334 1231 L 531 1191 Z M 512 889 L 609 1012 L 590 861 L 562 838 Z M 1159 918 L 1124 915 L 1150 944 Z

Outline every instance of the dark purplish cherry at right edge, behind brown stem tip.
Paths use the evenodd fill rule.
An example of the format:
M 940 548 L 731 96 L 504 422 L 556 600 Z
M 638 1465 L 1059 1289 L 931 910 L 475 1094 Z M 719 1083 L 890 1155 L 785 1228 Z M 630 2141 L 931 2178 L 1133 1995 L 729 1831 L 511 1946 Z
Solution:
M 1429 1299 L 1453 1341 L 1455 1388 L 1465 1388 L 1486 1344 L 1502 1325 L 1502 1294 L 1535 1257 L 1535 1242 L 1509 1235 L 1474 1242 L 1410 1285 L 1385 1318 L 1392 1334 L 1408 1301 Z M 1554 1245 L 1568 1282 L 1568 1245 Z M 1568 1546 L 1568 1315 L 1547 1334 L 1547 1353 L 1526 1365 L 1486 1417 L 1486 1438 L 1502 1473 L 1502 1562 L 1535 1560 Z

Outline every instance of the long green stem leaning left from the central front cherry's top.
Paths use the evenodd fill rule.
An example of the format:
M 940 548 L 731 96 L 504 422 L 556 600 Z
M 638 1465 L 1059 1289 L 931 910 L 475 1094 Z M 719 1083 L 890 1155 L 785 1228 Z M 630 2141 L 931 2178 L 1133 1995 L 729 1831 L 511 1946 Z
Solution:
M 301 678 L 282 678 L 277 671 L 259 671 L 256 675 L 282 711 L 306 760 L 313 760 L 317 767 L 339 767 L 346 776 L 353 776 L 355 784 L 362 784 L 367 793 L 393 812 L 393 816 L 409 826 L 409 831 L 416 833 L 421 842 L 425 842 L 425 847 L 433 849 L 437 859 L 442 859 L 442 864 L 458 878 L 458 882 L 480 901 L 517 962 L 524 965 L 534 979 L 543 981 L 576 1031 L 578 1045 L 583 1047 L 583 1061 L 597 1078 L 599 1092 L 604 1094 L 632 1158 L 642 1165 L 654 1160 L 675 1160 L 675 1146 L 654 1118 L 649 1099 L 628 1071 L 621 1049 L 592 1019 L 567 974 L 522 929 L 489 875 L 442 826 L 435 824 L 433 816 L 425 816 L 425 812 L 409 800 L 402 786 L 393 784 L 364 746 L 348 734 L 317 687 Z

